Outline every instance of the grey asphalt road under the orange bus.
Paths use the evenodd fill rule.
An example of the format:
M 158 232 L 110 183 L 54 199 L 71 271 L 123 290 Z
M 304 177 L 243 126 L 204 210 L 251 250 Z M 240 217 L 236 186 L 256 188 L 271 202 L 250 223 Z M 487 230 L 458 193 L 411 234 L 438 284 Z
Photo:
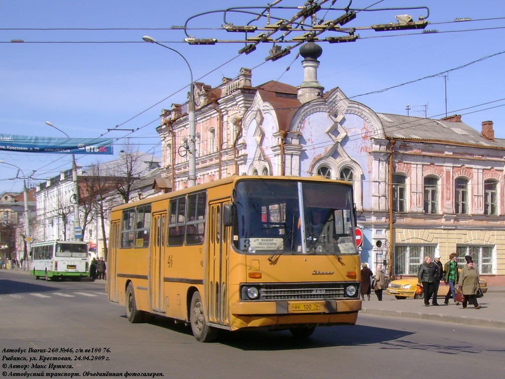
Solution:
M 104 288 L 99 281 L 45 282 L 0 270 L 4 377 L 24 371 L 79 376 L 109 372 L 122 377 L 126 372 L 158 373 L 192 379 L 461 379 L 505 373 L 501 328 L 361 314 L 358 325 L 320 327 L 307 340 L 295 340 L 287 331 L 254 330 L 223 333 L 219 342 L 203 344 L 187 326 L 164 318 L 130 324 L 122 307 L 107 302 Z M 71 360 L 44 361 L 47 358 Z M 9 368 L 11 364 L 30 368 Z

